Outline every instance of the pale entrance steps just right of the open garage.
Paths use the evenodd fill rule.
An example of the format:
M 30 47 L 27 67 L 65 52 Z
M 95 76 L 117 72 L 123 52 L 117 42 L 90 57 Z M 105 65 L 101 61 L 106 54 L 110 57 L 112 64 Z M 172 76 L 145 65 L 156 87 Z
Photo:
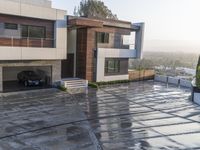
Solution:
M 88 87 L 88 81 L 84 79 L 79 78 L 66 78 L 62 79 L 61 85 L 70 89 L 81 89 L 81 88 L 87 88 Z

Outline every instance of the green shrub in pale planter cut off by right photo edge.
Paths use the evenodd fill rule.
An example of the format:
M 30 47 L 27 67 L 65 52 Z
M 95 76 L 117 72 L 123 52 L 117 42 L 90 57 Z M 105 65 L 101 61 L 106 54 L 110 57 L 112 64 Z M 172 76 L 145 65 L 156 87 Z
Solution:
M 200 105 L 200 56 L 196 67 L 196 77 L 192 81 L 192 100 Z

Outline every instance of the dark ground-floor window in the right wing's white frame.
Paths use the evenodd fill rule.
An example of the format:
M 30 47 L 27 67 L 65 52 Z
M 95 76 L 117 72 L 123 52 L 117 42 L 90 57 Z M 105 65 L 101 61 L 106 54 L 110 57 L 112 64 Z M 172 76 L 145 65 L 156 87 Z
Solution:
M 120 72 L 119 59 L 106 59 L 105 61 L 105 74 L 117 74 Z

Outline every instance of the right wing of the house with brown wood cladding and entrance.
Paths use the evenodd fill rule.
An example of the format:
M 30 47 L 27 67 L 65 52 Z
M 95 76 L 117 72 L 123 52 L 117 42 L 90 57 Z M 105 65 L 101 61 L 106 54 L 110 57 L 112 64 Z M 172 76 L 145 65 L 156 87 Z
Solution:
M 62 78 L 126 80 L 129 59 L 141 58 L 144 24 L 68 16 L 67 60 Z

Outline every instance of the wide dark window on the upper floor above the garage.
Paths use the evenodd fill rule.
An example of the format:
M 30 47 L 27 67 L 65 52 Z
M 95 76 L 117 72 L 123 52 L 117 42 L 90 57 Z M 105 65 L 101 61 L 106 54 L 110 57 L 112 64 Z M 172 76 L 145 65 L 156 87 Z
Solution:
M 46 28 L 40 26 L 21 25 L 22 37 L 46 38 Z

